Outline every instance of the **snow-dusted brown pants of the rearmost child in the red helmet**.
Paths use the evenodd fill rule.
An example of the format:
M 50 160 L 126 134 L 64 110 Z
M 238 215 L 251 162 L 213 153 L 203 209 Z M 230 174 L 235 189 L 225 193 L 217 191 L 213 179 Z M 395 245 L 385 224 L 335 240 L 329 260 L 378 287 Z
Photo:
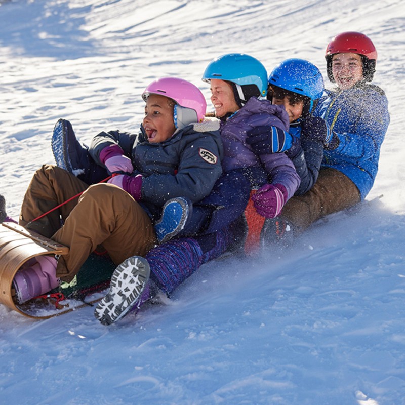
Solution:
M 325 168 L 320 170 L 311 190 L 287 201 L 281 217 L 299 234 L 318 219 L 353 207 L 359 202 L 360 192 L 354 183 L 338 170 Z

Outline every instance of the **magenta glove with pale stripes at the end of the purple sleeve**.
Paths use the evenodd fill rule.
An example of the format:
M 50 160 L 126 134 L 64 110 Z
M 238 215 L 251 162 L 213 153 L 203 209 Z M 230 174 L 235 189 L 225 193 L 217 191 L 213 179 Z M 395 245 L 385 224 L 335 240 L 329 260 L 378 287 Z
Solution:
M 253 205 L 258 214 L 275 218 L 288 200 L 288 192 L 282 184 L 265 184 L 252 195 Z

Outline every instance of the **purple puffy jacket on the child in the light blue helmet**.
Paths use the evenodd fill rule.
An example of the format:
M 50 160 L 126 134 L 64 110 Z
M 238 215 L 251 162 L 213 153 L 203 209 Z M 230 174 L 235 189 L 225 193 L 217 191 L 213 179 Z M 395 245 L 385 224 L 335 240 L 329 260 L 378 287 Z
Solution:
M 285 153 L 269 153 L 259 157 L 246 143 L 247 132 L 263 125 L 288 131 L 289 117 L 284 107 L 251 97 L 244 107 L 225 122 L 221 121 L 220 133 L 224 146 L 222 168 L 227 172 L 237 168 L 264 167 L 268 182 L 284 185 L 290 198 L 301 181 L 292 161 Z

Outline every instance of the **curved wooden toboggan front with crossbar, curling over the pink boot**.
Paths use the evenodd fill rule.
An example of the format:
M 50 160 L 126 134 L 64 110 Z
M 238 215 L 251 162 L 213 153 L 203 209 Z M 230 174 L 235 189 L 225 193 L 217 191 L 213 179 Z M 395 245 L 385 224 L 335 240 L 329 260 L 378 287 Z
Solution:
M 69 248 L 20 225 L 0 224 L 0 303 L 30 317 L 13 300 L 12 282 L 18 269 L 29 259 L 41 255 L 66 255 Z M 44 316 L 47 318 L 55 315 Z

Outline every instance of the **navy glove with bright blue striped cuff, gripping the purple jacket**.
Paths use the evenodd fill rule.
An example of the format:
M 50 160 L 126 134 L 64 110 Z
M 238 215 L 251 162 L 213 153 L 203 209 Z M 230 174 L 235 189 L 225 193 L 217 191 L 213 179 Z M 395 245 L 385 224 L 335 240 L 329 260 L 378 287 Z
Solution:
M 255 127 L 247 132 L 246 143 L 258 155 L 285 152 L 291 147 L 292 136 L 277 127 Z

